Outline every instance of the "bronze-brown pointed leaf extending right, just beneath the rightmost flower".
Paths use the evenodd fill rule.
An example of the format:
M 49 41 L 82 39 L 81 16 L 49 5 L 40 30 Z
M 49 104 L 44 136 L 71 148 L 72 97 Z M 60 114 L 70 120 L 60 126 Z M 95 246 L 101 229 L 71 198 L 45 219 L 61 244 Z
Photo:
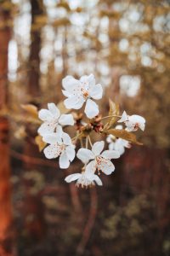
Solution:
M 118 130 L 118 129 L 110 129 L 105 131 L 106 134 L 114 135 L 115 137 L 121 137 L 124 140 L 127 140 L 130 143 L 134 143 L 137 145 L 143 145 L 143 143 L 139 143 L 136 139 L 135 134 L 125 131 L 125 130 Z

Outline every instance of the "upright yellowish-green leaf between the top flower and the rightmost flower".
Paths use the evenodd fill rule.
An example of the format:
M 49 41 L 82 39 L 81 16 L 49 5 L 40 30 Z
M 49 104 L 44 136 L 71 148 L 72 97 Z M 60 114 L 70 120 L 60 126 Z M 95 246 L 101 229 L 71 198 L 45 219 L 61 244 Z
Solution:
M 110 105 L 110 110 L 109 110 L 109 116 L 111 115 L 119 115 L 119 105 L 116 104 L 115 102 L 112 102 L 111 99 L 109 99 L 109 105 Z M 115 124 L 117 117 L 112 116 L 107 124 L 104 127 L 105 129 L 109 129 L 111 125 Z

